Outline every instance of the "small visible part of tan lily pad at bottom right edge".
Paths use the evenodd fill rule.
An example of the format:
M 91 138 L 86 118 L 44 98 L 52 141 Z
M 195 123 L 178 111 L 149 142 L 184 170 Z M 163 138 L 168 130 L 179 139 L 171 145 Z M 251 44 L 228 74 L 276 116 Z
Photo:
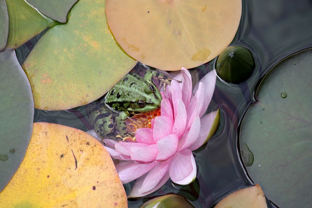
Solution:
M 223 198 L 215 208 L 267 208 L 266 197 L 263 194 L 261 187 L 251 186 L 244 188 Z

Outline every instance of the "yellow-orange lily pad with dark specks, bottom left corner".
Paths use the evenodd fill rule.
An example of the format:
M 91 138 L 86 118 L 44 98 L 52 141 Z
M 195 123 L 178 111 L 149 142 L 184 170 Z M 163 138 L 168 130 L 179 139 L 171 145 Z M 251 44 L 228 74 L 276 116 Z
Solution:
M 84 131 L 34 123 L 26 156 L 0 207 L 127 207 L 114 163 Z

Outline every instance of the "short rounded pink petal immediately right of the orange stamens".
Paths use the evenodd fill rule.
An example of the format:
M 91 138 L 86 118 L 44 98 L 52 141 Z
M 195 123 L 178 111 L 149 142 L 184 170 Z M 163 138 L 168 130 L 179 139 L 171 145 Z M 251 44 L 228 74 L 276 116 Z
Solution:
M 157 116 L 154 121 L 153 137 L 155 143 L 172 133 L 173 122 L 166 116 Z

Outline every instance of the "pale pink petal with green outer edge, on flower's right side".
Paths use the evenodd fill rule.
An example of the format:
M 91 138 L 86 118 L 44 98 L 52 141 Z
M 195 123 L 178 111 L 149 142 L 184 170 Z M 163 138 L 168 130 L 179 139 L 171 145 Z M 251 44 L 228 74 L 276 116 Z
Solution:
M 203 142 L 206 140 L 207 135 L 211 129 L 212 123 L 217 115 L 217 111 L 212 111 L 211 113 L 206 114 L 200 118 L 200 131 L 197 140 L 193 145 L 189 146 L 190 150 L 196 150 L 198 147 L 203 145 Z

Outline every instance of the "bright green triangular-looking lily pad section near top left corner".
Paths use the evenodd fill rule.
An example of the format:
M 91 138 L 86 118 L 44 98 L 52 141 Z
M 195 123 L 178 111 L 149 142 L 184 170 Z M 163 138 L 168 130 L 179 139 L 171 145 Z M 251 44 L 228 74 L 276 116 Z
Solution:
M 24 0 L 7 0 L 9 14 L 9 36 L 7 48 L 18 48 L 36 36 L 54 21 L 40 14 Z

